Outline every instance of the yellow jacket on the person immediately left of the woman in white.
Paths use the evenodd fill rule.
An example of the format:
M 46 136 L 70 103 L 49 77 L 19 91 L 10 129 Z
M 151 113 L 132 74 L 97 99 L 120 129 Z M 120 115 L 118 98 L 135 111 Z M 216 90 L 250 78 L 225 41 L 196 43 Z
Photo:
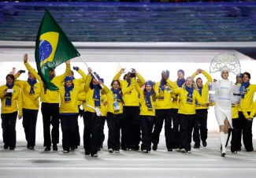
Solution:
M 202 71 L 202 75 L 206 76 L 207 82 L 202 86 L 202 100 L 203 102 L 208 102 L 208 93 L 209 93 L 209 83 L 211 83 L 213 81 L 212 77 L 209 75 L 209 73 L 207 73 L 206 71 Z M 192 74 L 192 78 L 195 78 L 196 74 L 193 73 Z M 195 105 L 195 109 L 209 109 L 209 107 L 206 106 L 200 106 L 200 105 Z

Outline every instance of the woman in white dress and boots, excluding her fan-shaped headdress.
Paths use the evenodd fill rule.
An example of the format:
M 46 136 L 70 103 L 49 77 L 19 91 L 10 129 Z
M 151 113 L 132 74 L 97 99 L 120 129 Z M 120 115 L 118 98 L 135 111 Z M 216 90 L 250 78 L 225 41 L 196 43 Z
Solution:
M 222 80 L 215 82 L 215 116 L 220 127 L 221 157 L 226 154 L 225 143 L 228 139 L 228 128 L 232 128 L 232 86 L 234 83 L 228 80 L 229 70 L 224 66 L 221 69 Z

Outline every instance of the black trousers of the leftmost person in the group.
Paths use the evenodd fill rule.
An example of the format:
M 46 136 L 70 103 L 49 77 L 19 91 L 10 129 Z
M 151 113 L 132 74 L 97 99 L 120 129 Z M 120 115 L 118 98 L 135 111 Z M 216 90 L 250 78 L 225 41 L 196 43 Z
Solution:
M 16 121 L 18 112 L 1 113 L 2 139 L 5 146 L 16 147 Z

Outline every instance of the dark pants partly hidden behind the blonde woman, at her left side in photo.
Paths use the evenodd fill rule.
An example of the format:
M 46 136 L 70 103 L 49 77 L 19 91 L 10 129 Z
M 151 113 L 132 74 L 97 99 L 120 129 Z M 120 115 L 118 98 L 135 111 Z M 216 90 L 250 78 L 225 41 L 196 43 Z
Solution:
M 171 109 L 173 116 L 173 148 L 180 147 L 180 116 L 178 114 L 178 109 Z

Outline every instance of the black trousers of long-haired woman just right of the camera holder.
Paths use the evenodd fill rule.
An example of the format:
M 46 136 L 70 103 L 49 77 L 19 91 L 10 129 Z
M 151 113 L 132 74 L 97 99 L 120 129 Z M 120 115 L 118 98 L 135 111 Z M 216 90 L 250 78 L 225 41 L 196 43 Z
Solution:
M 140 122 L 142 131 L 141 150 L 151 150 L 152 131 L 154 127 L 155 117 L 140 116 Z

